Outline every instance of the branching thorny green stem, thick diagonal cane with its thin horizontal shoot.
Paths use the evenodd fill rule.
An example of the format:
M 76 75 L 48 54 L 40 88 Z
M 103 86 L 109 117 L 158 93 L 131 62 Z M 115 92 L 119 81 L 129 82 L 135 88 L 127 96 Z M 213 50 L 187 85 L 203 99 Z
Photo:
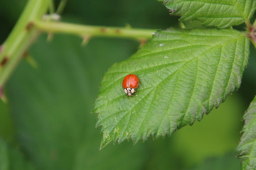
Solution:
M 67 0 L 60 1 L 56 13 L 61 13 Z M 100 26 L 82 26 L 72 23 L 43 21 L 43 15 L 50 10 L 53 13 L 53 0 L 29 0 L 21 18 L 3 45 L 0 45 L 0 98 L 3 96 L 4 84 L 16 68 L 18 62 L 26 54 L 39 33 L 68 33 L 79 35 L 84 42 L 91 37 L 132 38 L 145 42 L 151 38 L 155 30 L 135 28 L 114 28 Z M 54 14 L 54 13 L 53 13 Z

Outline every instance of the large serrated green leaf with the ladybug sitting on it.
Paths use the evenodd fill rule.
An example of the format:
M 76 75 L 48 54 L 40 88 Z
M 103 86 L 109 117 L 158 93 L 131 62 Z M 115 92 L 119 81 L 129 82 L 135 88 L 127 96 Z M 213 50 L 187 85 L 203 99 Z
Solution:
M 102 80 L 93 110 L 102 125 L 102 147 L 171 135 L 201 120 L 240 86 L 248 50 L 248 38 L 232 29 L 159 31 Z M 127 74 L 140 79 L 134 97 L 122 89 Z

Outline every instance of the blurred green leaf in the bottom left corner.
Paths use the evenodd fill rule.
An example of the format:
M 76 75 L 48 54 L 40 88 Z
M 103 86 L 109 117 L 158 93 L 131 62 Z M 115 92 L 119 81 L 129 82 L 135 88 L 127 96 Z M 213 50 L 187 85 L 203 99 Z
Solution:
M 9 146 L 0 138 L 0 169 L 32 170 L 34 168 L 18 149 Z

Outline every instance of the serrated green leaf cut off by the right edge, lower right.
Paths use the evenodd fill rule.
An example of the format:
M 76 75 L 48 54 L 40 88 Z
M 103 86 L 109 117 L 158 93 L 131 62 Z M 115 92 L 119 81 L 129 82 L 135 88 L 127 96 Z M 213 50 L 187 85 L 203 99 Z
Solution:
M 250 103 L 245 115 L 245 126 L 243 135 L 238 145 L 239 158 L 242 169 L 255 169 L 256 167 L 256 97 Z

